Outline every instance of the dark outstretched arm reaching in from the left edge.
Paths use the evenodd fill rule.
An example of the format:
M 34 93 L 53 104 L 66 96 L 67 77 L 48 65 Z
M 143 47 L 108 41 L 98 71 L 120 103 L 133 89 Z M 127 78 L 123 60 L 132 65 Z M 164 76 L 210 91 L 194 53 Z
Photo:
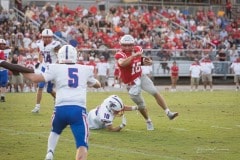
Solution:
M 6 61 L 0 62 L 0 66 L 6 69 L 9 69 L 10 71 L 21 72 L 21 73 L 34 73 L 33 69 L 29 69 L 17 64 L 11 64 Z

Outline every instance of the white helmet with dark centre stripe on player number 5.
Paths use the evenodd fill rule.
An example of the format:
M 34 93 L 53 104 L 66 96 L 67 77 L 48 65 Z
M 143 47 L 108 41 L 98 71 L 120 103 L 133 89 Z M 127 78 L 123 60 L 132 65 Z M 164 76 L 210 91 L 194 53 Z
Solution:
M 58 63 L 76 63 L 77 50 L 72 45 L 64 45 L 58 51 Z

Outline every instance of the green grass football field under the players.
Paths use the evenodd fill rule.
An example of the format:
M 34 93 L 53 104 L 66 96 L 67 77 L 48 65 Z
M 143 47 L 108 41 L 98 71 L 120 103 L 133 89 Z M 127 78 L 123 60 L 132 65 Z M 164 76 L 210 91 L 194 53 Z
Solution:
M 126 92 L 88 92 L 88 110 L 110 94 L 133 105 Z M 91 131 L 88 160 L 238 160 L 240 158 L 240 93 L 162 92 L 172 111 L 168 120 L 153 97 L 144 93 L 155 130 L 147 131 L 136 111 L 126 112 L 127 126 L 118 133 Z M 0 159 L 43 160 L 51 127 L 53 99 L 44 93 L 39 114 L 32 114 L 35 93 L 9 93 L 0 103 Z M 115 125 L 121 123 L 115 119 Z M 74 160 L 69 128 L 60 137 L 55 160 Z

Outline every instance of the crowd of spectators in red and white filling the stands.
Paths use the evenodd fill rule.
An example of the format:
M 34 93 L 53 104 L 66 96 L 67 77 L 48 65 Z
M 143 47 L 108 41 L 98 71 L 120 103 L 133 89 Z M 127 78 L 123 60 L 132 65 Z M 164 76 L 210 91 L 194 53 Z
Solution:
M 93 56 L 95 49 L 119 48 L 119 37 L 131 34 L 144 49 L 163 49 L 157 51 L 160 60 L 171 60 L 173 56 L 193 60 L 205 54 L 219 60 L 218 52 L 213 50 L 228 52 L 240 39 L 240 19 L 230 19 L 221 7 L 217 12 L 211 7 L 199 7 L 191 14 L 174 6 L 116 6 L 99 10 L 97 5 L 70 9 L 47 2 L 44 7 L 31 3 L 21 9 L 24 21 L 16 17 L 13 9 L 1 11 L 0 35 L 13 53 L 24 55 L 34 52 L 34 41 L 44 28 L 52 29 L 57 37 L 79 51 L 91 50 Z M 40 26 L 34 26 L 29 19 Z M 173 23 L 177 26 L 173 27 Z M 184 52 L 185 49 L 188 51 Z M 230 60 L 230 55 L 227 57 Z

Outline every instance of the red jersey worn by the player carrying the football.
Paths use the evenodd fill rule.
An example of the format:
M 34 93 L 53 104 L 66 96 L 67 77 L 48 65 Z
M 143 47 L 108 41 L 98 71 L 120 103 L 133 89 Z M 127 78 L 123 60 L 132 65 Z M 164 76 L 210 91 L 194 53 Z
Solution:
M 139 49 L 141 49 L 141 47 L 134 47 L 134 50 Z M 120 58 L 126 59 L 131 55 L 132 53 L 124 53 L 123 51 L 119 51 L 115 54 L 115 59 L 118 61 Z M 120 69 L 120 78 L 125 84 L 132 83 L 136 78 L 142 75 L 141 57 L 134 57 L 128 66 L 121 67 L 118 65 L 118 67 Z

